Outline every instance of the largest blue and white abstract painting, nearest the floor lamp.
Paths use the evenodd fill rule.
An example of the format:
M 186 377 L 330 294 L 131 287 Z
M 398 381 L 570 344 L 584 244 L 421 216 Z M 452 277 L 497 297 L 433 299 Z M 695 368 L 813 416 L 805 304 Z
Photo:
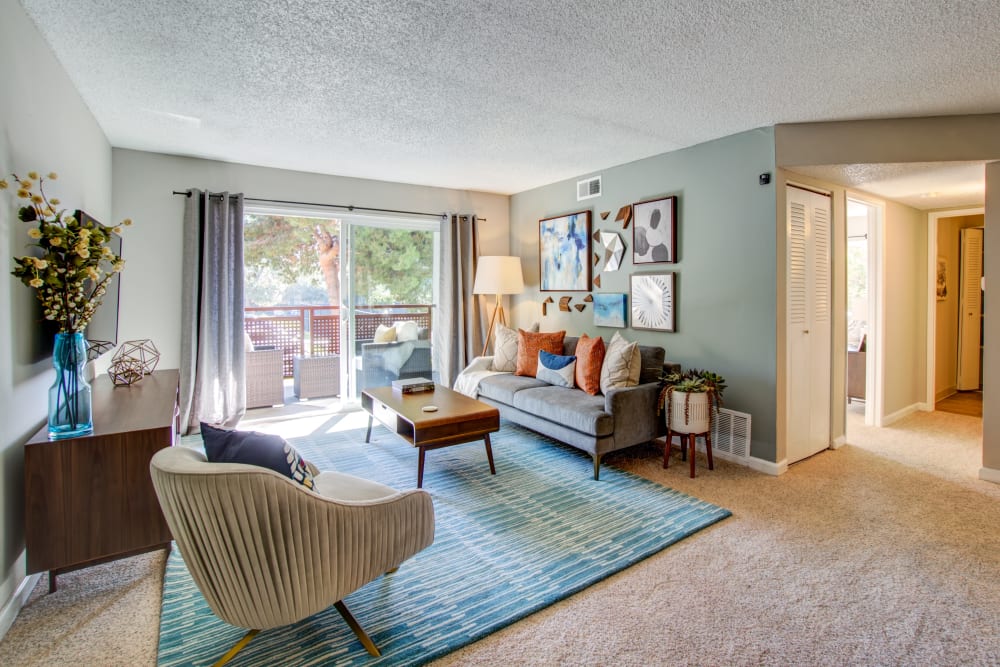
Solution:
M 590 211 L 538 221 L 542 292 L 590 291 Z

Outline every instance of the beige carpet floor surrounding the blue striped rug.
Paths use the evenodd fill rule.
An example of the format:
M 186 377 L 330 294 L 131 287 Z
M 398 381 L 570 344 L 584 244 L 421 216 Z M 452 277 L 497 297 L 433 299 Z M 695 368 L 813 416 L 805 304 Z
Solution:
M 1000 486 L 976 478 L 981 422 L 862 421 L 849 411 L 851 444 L 777 478 L 699 457 L 692 480 L 653 448 L 610 457 L 733 516 L 436 664 L 1000 663 Z M 70 573 L 51 596 L 43 582 L 0 664 L 154 664 L 162 568 L 157 554 Z

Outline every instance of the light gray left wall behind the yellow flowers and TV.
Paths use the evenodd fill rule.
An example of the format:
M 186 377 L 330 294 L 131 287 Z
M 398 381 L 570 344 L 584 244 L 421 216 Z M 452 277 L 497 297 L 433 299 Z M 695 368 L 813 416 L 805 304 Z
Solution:
M 66 73 L 14 0 L 0 0 L 0 178 L 55 171 L 46 193 L 106 221 L 111 147 Z M 0 612 L 25 578 L 24 443 L 45 422 L 51 357 L 38 359 L 34 291 L 10 275 L 29 239 L 18 200 L 0 191 Z M 51 350 L 51 342 L 49 342 Z M 0 614 L 3 616 L 4 614 Z M 0 617 L 0 634 L 10 619 Z

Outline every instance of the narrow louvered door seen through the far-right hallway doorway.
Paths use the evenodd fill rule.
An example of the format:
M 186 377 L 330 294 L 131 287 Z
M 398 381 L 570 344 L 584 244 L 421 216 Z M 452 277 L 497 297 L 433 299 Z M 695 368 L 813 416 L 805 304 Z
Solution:
M 962 230 L 961 290 L 958 297 L 958 389 L 979 389 L 983 313 L 983 230 Z

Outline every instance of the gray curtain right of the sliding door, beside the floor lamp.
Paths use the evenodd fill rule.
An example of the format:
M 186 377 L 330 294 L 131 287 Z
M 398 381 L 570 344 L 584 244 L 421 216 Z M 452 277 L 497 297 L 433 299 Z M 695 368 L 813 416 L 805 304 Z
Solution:
M 483 313 L 472 294 L 479 257 L 479 229 L 475 215 L 453 215 L 442 225 L 444 266 L 441 271 L 441 309 L 434 327 L 439 382 L 451 387 L 455 378 L 482 351 Z

